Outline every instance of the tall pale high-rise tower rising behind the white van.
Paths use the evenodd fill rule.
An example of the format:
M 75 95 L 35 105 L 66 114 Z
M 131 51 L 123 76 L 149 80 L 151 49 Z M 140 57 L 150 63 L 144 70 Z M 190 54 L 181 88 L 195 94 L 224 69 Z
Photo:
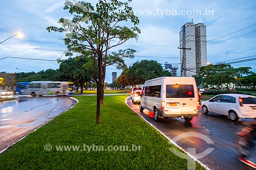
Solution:
M 201 66 L 207 64 L 206 26 L 188 22 L 180 30 L 181 76 L 198 75 Z

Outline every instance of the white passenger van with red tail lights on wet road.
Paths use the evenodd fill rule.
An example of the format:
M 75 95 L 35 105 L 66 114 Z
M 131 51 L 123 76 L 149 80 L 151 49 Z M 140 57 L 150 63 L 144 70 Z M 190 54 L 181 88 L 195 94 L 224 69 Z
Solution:
M 198 115 L 199 99 L 193 77 L 160 77 L 147 80 L 140 98 L 140 111 L 154 112 L 159 117 L 184 117 L 190 121 Z

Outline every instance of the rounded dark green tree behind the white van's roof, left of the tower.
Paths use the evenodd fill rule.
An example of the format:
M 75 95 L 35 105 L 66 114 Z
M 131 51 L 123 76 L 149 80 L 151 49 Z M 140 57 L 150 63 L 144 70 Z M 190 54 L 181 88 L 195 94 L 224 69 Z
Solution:
M 154 60 L 137 61 L 127 71 L 127 76 L 133 84 L 144 84 L 145 81 L 163 77 L 172 76 L 169 71 L 163 70 L 160 63 Z

